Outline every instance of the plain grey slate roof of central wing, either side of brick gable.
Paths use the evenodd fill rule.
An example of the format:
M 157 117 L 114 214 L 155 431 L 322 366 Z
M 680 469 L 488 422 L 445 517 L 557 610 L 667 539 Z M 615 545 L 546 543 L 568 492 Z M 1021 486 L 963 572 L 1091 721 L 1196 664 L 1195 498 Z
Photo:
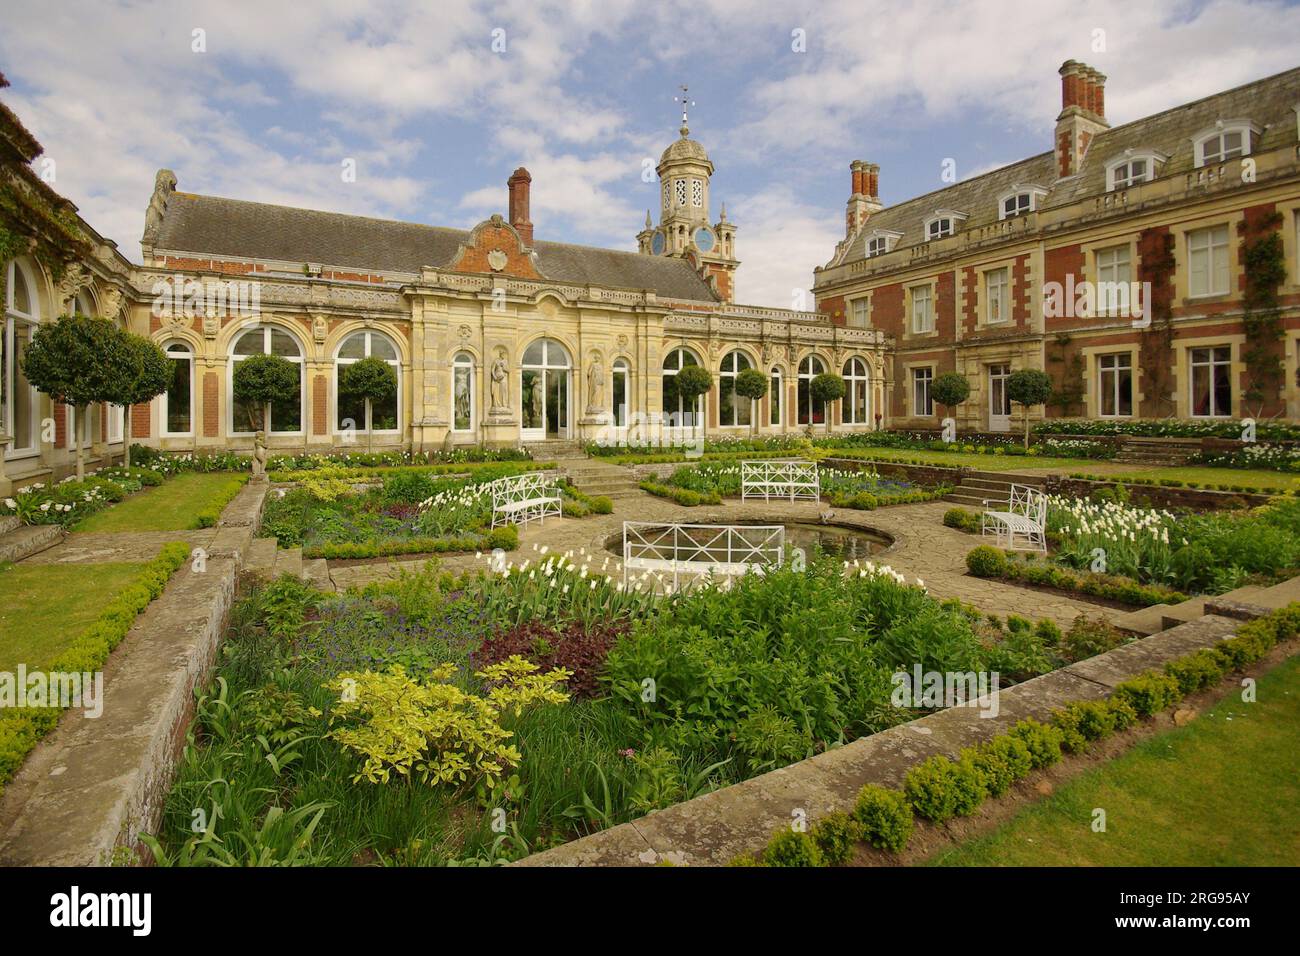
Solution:
M 448 268 L 465 229 L 347 216 L 318 209 L 174 193 L 153 242 L 156 250 L 316 263 L 373 272 L 419 273 Z M 684 259 L 534 242 L 537 271 L 556 282 L 647 289 L 667 299 L 716 302 Z

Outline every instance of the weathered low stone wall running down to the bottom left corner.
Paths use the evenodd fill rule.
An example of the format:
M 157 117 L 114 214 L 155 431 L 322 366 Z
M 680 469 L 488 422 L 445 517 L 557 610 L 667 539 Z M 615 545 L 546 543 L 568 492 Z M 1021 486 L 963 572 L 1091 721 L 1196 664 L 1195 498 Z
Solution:
M 103 714 L 65 711 L 8 784 L 0 865 L 104 866 L 157 831 L 265 493 L 246 485 L 222 511 L 204 570 L 186 562 L 135 619 L 104 667 Z

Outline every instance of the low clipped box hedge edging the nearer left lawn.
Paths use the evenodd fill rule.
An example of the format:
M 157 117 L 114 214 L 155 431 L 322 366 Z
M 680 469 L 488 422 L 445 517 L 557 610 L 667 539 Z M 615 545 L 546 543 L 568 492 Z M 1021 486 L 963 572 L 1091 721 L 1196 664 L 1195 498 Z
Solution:
M 190 545 L 172 541 L 162 545 L 135 579 L 100 611 L 99 617 L 72 645 L 46 667 L 47 674 L 86 674 L 104 667 L 109 653 L 122 643 L 135 618 L 150 606 L 168 580 L 190 557 Z M 0 793 L 18 773 L 27 754 L 58 723 L 62 708 L 23 708 L 0 710 Z

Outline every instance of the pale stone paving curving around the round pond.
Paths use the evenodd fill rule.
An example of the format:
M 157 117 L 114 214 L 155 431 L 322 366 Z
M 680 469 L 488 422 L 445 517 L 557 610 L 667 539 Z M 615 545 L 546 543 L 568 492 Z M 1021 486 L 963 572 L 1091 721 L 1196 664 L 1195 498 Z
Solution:
M 875 557 L 878 563 L 889 564 L 909 580 L 922 579 L 930 593 L 937 598 L 957 597 L 979 607 L 985 614 L 1020 614 L 1031 619 L 1050 618 L 1069 626 L 1079 614 L 1110 619 L 1118 614 L 1112 607 L 1087 600 L 1053 594 L 1031 588 L 1020 588 L 1002 581 L 989 581 L 966 574 L 966 553 L 979 544 L 979 538 L 942 523 L 946 502 L 932 501 L 919 505 L 894 505 L 875 511 L 835 509 L 837 525 L 883 531 L 894 544 Z M 818 523 L 827 505 L 816 502 L 754 503 L 725 501 L 720 506 L 685 509 L 666 498 L 641 493 L 615 501 L 614 514 L 590 518 L 546 519 L 545 524 L 532 523 L 520 531 L 517 554 L 532 555 L 533 544 L 547 545 L 551 551 L 603 551 L 606 542 L 618 540 L 624 520 L 654 522 L 679 520 L 693 524 L 728 524 L 746 520 L 772 520 L 779 523 Z M 339 589 L 359 587 L 374 580 L 396 578 L 404 571 L 415 571 L 424 561 L 394 561 L 382 564 L 356 564 L 332 567 L 330 579 Z M 452 571 L 482 567 L 471 555 L 447 557 L 442 567 Z

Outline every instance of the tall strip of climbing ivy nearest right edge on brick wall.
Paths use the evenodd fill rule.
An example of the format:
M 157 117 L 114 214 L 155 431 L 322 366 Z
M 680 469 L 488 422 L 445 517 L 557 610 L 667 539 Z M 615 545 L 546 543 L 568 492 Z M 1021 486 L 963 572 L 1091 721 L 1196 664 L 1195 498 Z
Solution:
M 1248 234 L 1243 243 L 1245 294 L 1242 325 L 1245 328 L 1245 349 L 1242 360 L 1245 363 L 1245 389 L 1242 394 L 1247 402 L 1258 403 L 1256 415 L 1262 412 L 1266 402 L 1280 397 L 1284 378 L 1278 286 L 1286 281 L 1287 265 L 1280 226 L 1282 215 L 1273 211 L 1253 224 L 1249 230 L 1253 234 Z

